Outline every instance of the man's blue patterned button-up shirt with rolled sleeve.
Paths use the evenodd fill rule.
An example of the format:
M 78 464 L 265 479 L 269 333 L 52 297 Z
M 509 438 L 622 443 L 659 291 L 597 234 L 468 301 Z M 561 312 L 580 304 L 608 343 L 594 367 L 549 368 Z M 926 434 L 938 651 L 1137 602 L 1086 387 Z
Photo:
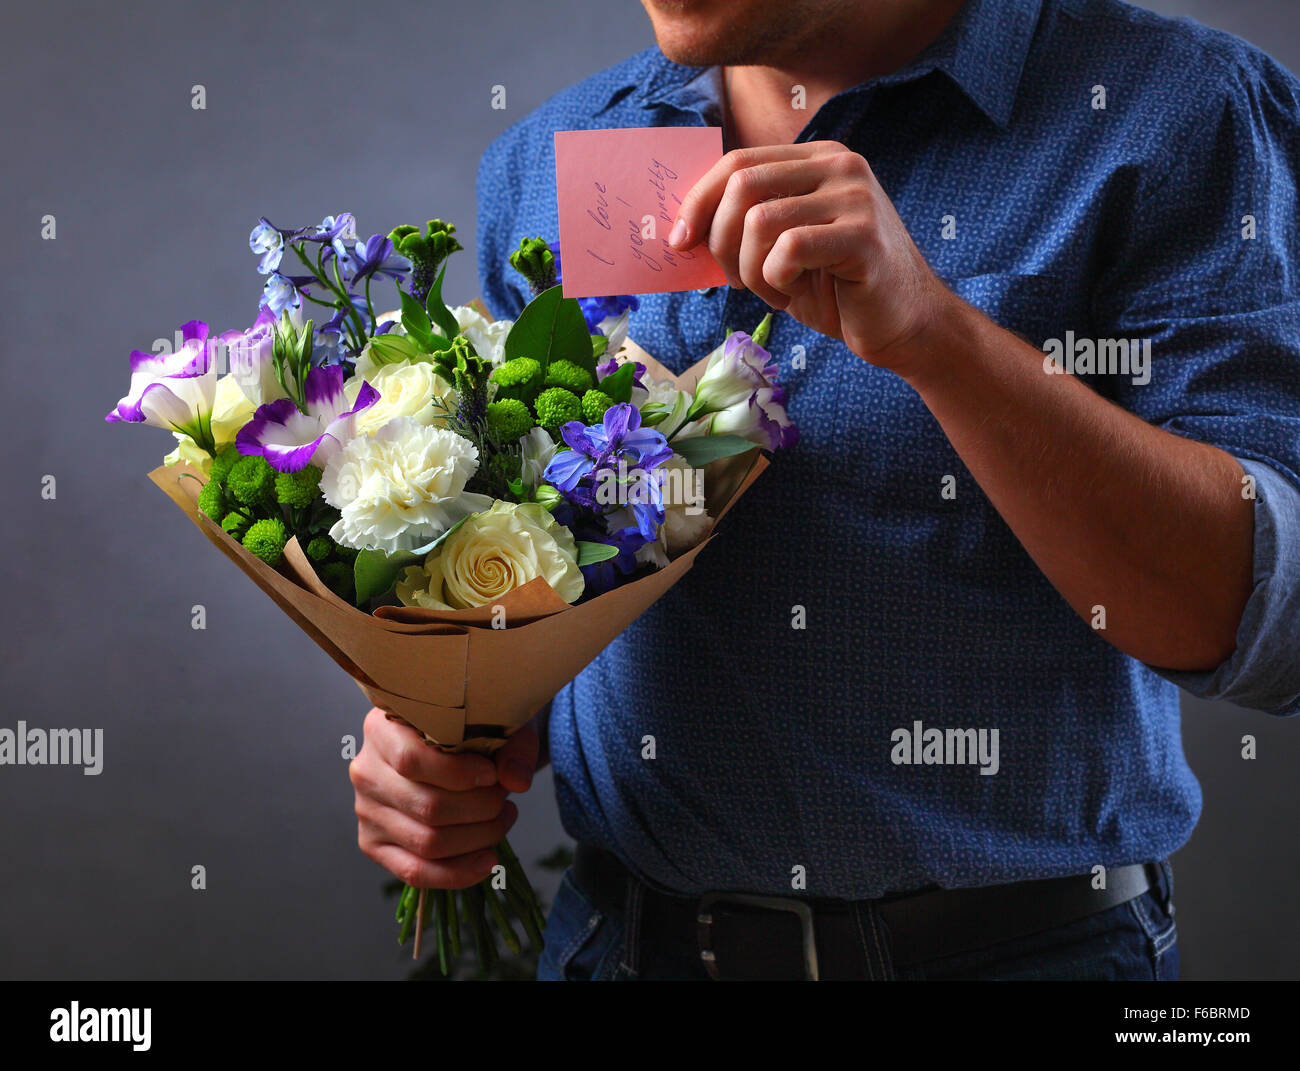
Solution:
M 1078 373 L 1253 477 L 1236 651 L 1175 673 L 1108 645 L 905 382 L 777 316 L 801 441 L 556 697 L 566 829 L 685 893 L 788 894 L 802 867 L 809 894 L 848 898 L 1178 849 L 1201 797 L 1175 682 L 1300 711 L 1297 117 L 1300 83 L 1268 56 L 1115 0 L 970 0 L 913 62 L 810 114 L 800 139 L 866 156 L 935 272 L 996 322 L 1035 346 L 1149 339 L 1148 377 Z M 478 175 L 493 311 L 526 298 L 510 250 L 558 233 L 554 131 L 720 121 L 718 71 L 649 49 L 497 139 Z M 682 370 L 763 312 L 727 287 L 653 295 L 632 337 Z M 918 721 L 997 729 L 997 773 L 896 762 Z

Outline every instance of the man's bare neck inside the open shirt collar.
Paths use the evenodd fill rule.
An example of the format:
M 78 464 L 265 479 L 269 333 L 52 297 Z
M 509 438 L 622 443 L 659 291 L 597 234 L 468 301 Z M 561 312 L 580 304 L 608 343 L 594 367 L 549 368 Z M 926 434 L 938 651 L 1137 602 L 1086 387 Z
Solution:
M 872 0 L 810 27 L 770 65 L 728 66 L 728 146 L 788 144 L 844 90 L 898 70 L 926 49 L 965 0 Z M 800 91 L 802 87 L 802 108 Z

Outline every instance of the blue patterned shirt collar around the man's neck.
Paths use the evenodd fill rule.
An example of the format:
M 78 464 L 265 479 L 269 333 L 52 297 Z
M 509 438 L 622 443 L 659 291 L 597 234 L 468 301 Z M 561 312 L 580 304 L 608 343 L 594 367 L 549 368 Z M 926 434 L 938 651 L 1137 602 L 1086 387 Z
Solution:
M 940 70 L 976 108 L 1005 129 L 1011 121 L 1041 8 L 1043 0 L 967 0 L 919 56 L 898 70 L 854 86 L 845 94 L 874 86 L 902 84 Z M 698 112 L 710 122 L 720 122 L 722 82 L 718 68 L 680 66 L 658 48 L 649 49 L 647 58 L 649 69 L 640 92 L 644 107 L 666 104 Z

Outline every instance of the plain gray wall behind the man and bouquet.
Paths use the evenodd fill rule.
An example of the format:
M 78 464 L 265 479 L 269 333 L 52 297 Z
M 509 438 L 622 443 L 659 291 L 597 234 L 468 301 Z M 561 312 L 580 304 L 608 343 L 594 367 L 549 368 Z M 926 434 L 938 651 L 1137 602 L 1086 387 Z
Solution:
M 1149 6 L 1300 69 L 1294 0 Z M 143 478 L 166 437 L 101 419 L 130 348 L 250 321 L 259 214 L 346 209 L 365 233 L 437 214 L 473 250 L 482 149 L 649 23 L 632 0 L 53 0 L 6 23 L 0 725 L 101 727 L 107 756 L 99 777 L 0 767 L 0 974 L 400 977 L 339 754 L 360 693 Z M 447 291 L 477 291 L 472 252 Z M 1300 974 L 1297 729 L 1186 706 L 1205 793 L 1175 860 L 1187 977 Z M 563 840 L 547 775 L 514 840 L 526 862 Z

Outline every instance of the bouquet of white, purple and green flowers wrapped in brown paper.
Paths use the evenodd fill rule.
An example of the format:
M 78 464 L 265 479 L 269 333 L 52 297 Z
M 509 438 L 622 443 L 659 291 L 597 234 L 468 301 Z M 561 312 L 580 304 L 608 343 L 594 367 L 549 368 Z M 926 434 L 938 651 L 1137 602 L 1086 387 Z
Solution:
M 542 239 L 510 257 L 533 295 L 517 320 L 447 305 L 454 234 L 261 220 L 252 326 L 190 321 L 173 351 L 133 352 L 107 420 L 174 434 L 153 482 L 374 706 L 486 754 L 681 577 L 762 448 L 797 432 L 771 317 L 675 377 L 627 337 L 637 299 L 564 298 Z M 400 305 L 380 315 L 384 279 Z M 463 925 L 485 967 L 493 927 L 540 949 L 504 841 L 498 860 L 459 893 L 406 886 L 399 940 L 415 931 L 419 955 L 436 927 L 443 972 Z

